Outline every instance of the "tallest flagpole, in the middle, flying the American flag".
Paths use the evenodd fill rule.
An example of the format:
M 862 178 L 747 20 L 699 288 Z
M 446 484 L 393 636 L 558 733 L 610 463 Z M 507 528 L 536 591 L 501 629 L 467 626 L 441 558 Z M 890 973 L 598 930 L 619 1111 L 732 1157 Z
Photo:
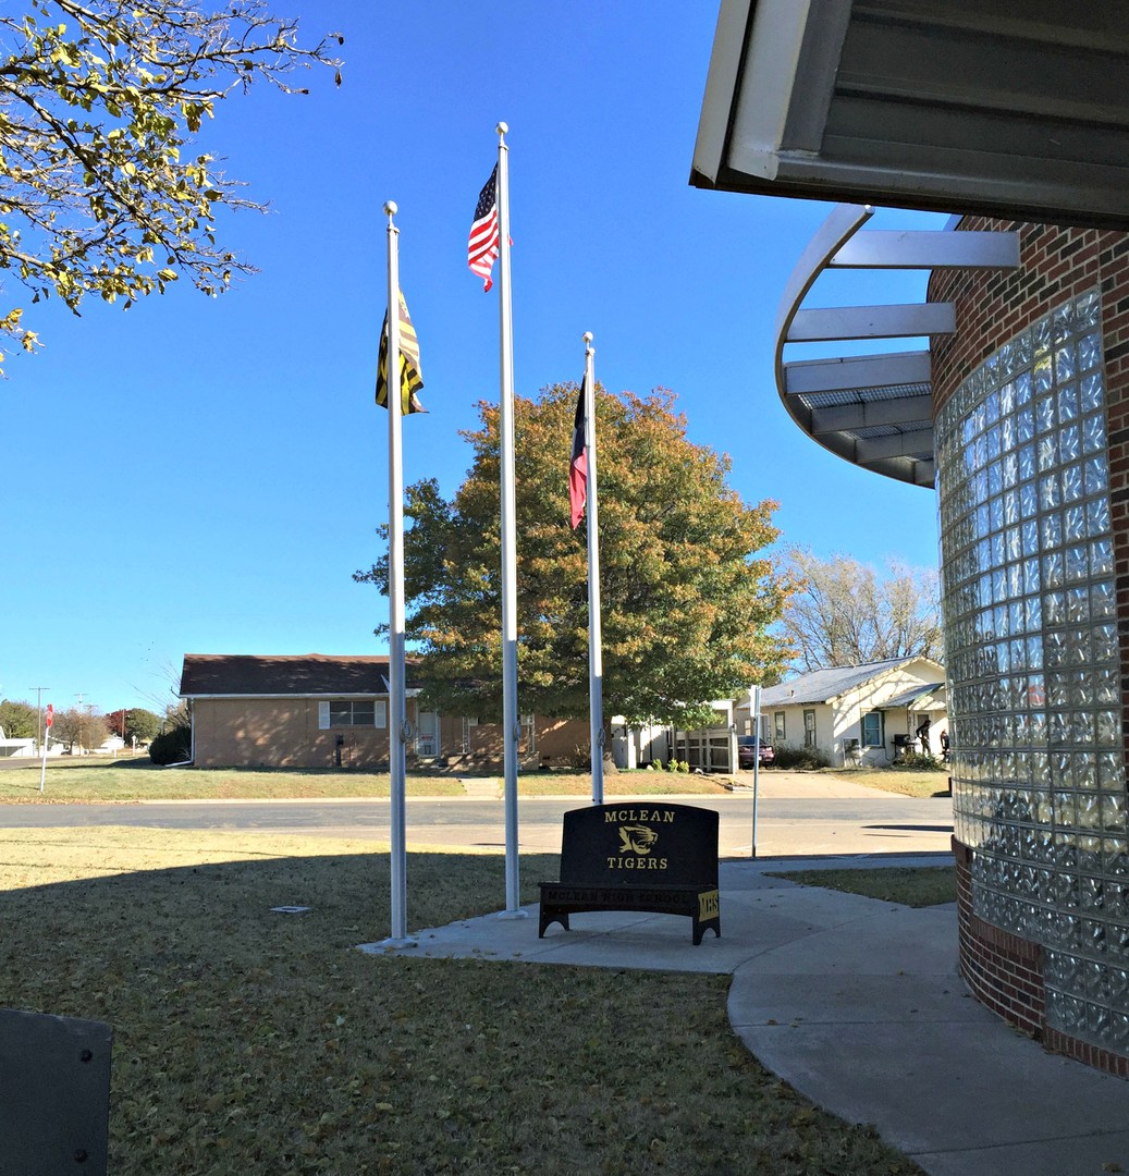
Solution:
M 501 315 L 501 490 L 502 490 L 502 741 L 506 796 L 506 910 L 520 918 L 521 891 L 517 867 L 517 506 L 514 488 L 514 322 L 509 288 L 509 148 L 497 127 L 497 305 Z

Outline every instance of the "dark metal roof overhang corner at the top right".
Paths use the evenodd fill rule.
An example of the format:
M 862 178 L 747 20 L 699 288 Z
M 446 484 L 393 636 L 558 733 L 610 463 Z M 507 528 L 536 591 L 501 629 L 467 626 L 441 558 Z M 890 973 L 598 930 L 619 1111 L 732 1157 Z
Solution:
M 1129 0 L 722 0 L 690 182 L 1129 228 Z

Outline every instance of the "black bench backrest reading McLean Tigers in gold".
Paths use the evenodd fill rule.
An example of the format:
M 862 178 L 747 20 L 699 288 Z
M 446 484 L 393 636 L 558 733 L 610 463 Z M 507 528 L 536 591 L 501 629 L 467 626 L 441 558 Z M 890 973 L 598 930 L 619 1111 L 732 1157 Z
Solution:
M 690 804 L 626 801 L 564 814 L 561 882 L 717 888 L 717 814 Z

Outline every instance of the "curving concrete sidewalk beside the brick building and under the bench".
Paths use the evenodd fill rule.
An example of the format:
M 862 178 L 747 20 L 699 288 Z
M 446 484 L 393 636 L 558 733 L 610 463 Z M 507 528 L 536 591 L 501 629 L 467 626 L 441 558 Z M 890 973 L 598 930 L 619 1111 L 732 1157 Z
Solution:
M 673 915 L 573 915 L 537 938 L 527 917 L 419 933 L 401 953 L 729 973 L 729 1018 L 813 1102 L 934 1176 L 1129 1172 L 1129 1083 L 1047 1054 L 977 1004 L 956 971 L 955 904 L 914 910 L 769 871 L 950 864 L 947 855 L 728 861 L 722 937 Z M 368 950 L 385 950 L 373 944 Z

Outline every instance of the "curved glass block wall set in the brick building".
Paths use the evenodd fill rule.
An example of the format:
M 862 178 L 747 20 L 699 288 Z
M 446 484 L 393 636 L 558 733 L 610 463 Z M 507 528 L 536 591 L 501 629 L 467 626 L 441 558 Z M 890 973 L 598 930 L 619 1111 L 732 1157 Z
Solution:
M 973 909 L 1044 947 L 1047 1023 L 1129 1051 L 1129 855 L 1100 293 L 936 420 L 956 837 Z

